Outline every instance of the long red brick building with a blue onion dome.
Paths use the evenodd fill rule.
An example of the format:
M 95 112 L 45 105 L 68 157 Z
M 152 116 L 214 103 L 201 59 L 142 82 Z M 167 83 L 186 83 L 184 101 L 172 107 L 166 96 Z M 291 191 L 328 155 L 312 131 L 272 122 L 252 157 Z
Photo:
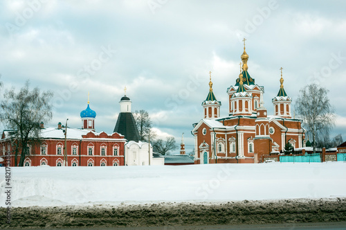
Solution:
M 96 113 L 88 107 L 80 113 L 82 129 L 63 127 L 44 127 L 41 124 L 42 142 L 28 144 L 28 155 L 24 166 L 63 166 L 66 133 L 67 166 L 124 166 L 124 145 L 127 140 L 114 132 L 94 132 Z M 10 142 L 10 131 L 3 131 L 0 140 L 0 155 L 10 153 L 10 166 L 15 166 L 15 154 Z M 19 162 L 19 156 L 17 157 Z

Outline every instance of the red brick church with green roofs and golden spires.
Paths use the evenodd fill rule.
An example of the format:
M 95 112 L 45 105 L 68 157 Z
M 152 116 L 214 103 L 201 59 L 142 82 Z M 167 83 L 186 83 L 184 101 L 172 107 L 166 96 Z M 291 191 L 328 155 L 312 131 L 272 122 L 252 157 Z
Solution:
M 280 89 L 272 99 L 274 114 L 268 115 L 264 87 L 248 72 L 245 39 L 241 59 L 239 77 L 227 89 L 227 116 L 220 116 L 221 101 L 212 91 L 210 72 L 210 89 L 202 103 L 204 115 L 192 130 L 195 163 L 257 163 L 264 154 L 282 152 L 286 143 L 304 147 L 305 130 L 302 121 L 291 116 L 292 99 L 284 90 L 282 68 Z

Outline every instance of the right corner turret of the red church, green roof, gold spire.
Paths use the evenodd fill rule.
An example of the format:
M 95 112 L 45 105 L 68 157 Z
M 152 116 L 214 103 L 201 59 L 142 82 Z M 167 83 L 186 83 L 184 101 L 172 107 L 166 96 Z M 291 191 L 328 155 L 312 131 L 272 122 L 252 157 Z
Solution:
M 287 96 L 286 91 L 284 91 L 284 78 L 282 78 L 282 67 L 281 78 L 280 78 L 280 90 L 277 96 L 272 99 L 274 105 L 274 115 L 280 116 L 282 118 L 291 118 L 291 103 L 292 98 Z

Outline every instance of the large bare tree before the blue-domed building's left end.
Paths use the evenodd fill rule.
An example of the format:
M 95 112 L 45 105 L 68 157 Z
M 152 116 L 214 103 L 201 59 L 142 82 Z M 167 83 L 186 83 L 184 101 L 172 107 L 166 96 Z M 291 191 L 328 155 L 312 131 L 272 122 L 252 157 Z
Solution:
M 53 93 L 35 87 L 30 91 L 27 81 L 18 93 L 15 88 L 6 90 L 1 101 L 0 118 L 10 132 L 12 147 L 15 152 L 15 166 L 20 153 L 19 166 L 24 166 L 24 159 L 28 152 L 28 143 L 40 141 L 39 123 L 50 121 L 52 105 L 50 103 Z

